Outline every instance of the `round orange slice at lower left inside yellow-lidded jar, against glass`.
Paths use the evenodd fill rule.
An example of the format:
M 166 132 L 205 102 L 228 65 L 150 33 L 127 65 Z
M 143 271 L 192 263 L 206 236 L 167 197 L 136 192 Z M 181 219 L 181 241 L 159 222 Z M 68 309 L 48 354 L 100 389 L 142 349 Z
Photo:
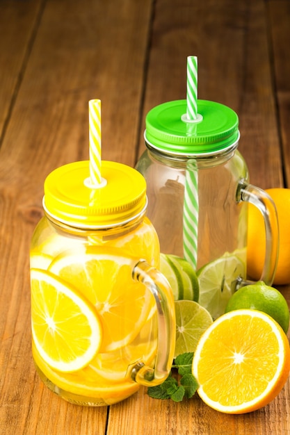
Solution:
M 38 352 L 62 372 L 87 366 L 102 342 L 95 308 L 45 270 L 31 270 L 31 323 Z

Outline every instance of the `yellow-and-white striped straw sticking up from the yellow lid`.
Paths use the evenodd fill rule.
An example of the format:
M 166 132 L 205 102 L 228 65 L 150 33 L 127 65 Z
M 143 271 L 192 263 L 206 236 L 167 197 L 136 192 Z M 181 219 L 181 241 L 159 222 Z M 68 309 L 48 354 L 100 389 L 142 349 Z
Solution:
M 101 174 L 101 100 L 91 99 L 88 102 L 89 140 L 90 140 L 90 183 L 99 186 Z

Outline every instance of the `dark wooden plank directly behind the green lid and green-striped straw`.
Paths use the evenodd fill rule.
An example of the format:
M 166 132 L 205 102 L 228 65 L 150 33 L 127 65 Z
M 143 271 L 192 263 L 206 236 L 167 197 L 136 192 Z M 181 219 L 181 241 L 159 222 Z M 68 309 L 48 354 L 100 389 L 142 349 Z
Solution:
M 186 98 L 186 56 L 197 55 L 198 97 L 236 110 L 239 150 L 261 188 L 282 186 L 266 25 L 263 0 L 157 1 L 142 117 Z M 142 131 L 139 155 L 144 149 Z

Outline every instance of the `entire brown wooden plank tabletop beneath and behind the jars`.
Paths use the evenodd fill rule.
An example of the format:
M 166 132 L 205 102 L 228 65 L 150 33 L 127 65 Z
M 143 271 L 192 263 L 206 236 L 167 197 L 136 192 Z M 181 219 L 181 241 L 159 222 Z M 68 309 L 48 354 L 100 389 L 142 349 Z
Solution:
M 145 114 L 198 96 L 236 110 L 251 182 L 290 187 L 289 0 L 0 0 L 0 434 L 290 434 L 290 380 L 241 416 L 145 388 L 78 407 L 42 385 L 31 357 L 29 243 L 45 177 L 88 159 L 88 100 L 102 100 L 102 158 L 135 165 Z M 290 286 L 280 287 L 290 304 Z

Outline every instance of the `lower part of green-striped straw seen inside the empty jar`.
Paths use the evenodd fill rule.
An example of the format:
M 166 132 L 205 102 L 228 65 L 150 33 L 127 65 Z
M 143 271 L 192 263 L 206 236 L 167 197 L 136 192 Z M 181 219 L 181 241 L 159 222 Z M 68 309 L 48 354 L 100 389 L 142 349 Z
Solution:
M 184 186 L 183 238 L 184 258 L 196 270 L 198 262 L 198 165 L 187 162 Z

